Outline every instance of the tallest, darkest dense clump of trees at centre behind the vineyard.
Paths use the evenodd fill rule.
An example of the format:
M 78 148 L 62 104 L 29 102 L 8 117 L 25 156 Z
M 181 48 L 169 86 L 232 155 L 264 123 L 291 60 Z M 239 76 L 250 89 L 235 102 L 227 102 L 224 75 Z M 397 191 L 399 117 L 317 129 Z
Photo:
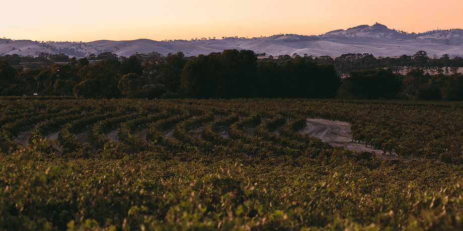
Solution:
M 182 73 L 182 90 L 198 98 L 334 97 L 340 79 L 333 65 L 302 57 L 257 62 L 248 50 L 200 55 Z

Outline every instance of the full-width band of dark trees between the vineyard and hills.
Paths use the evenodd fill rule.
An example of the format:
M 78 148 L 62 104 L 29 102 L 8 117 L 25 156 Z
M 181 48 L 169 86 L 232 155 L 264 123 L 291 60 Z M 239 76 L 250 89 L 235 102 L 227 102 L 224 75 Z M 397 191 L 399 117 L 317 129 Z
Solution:
M 463 100 L 463 77 L 457 73 L 463 59 L 458 57 L 429 59 L 424 51 L 398 59 L 376 59 L 370 54 L 258 59 L 261 55 L 236 49 L 198 57 L 152 52 L 126 58 L 104 52 L 78 60 L 41 54 L 36 59 L 61 63 L 25 70 L 11 65 L 13 55 L 5 56 L 0 60 L 0 94 Z M 347 75 L 340 74 L 347 70 Z

